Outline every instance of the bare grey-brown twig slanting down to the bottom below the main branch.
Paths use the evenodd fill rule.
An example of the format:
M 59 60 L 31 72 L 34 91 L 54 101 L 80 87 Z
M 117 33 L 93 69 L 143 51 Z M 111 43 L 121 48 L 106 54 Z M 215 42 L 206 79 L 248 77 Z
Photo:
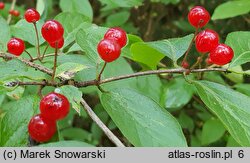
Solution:
M 82 99 L 81 105 L 86 110 L 88 115 L 92 118 L 92 120 L 102 129 L 102 131 L 107 135 L 107 137 L 117 146 L 117 147 L 125 147 L 124 144 L 109 130 L 109 128 L 99 119 L 99 117 L 95 114 L 95 112 L 90 108 L 87 102 Z

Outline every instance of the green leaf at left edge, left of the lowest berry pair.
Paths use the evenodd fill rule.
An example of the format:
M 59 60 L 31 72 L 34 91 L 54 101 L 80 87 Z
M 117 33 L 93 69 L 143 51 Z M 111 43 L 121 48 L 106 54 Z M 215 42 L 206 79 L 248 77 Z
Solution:
M 37 113 L 39 97 L 27 96 L 9 103 L 1 121 L 0 146 L 20 147 L 28 144 L 28 123 Z

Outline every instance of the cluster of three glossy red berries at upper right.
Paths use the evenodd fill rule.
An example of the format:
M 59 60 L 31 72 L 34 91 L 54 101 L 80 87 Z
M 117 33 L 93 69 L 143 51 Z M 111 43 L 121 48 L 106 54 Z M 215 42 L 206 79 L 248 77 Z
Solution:
M 210 14 L 205 8 L 195 6 L 190 10 L 188 20 L 192 26 L 199 29 L 209 22 Z M 234 56 L 232 48 L 219 43 L 219 35 L 211 29 L 205 29 L 197 34 L 195 46 L 198 52 L 209 53 L 207 58 L 207 63 L 209 64 L 225 65 Z

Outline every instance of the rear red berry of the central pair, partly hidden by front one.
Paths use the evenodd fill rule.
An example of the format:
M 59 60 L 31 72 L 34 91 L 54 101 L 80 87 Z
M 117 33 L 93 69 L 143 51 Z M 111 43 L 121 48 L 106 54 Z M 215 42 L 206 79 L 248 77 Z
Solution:
M 110 28 L 104 35 L 104 39 L 114 39 L 123 48 L 127 44 L 126 32 L 119 28 Z

